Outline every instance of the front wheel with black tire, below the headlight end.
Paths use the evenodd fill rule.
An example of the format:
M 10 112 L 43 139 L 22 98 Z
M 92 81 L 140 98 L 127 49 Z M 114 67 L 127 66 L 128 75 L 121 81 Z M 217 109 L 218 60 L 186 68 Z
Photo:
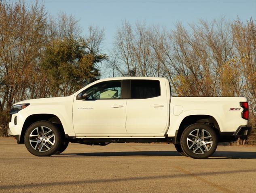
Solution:
M 35 156 L 51 156 L 60 149 L 63 137 L 53 123 L 38 121 L 28 127 L 24 143 L 28 151 Z

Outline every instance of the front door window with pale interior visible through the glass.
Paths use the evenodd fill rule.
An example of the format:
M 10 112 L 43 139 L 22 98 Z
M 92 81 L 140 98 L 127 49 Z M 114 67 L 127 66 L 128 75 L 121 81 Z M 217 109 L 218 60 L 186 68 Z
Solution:
M 87 99 L 120 99 L 121 81 L 106 81 L 98 83 L 85 91 Z

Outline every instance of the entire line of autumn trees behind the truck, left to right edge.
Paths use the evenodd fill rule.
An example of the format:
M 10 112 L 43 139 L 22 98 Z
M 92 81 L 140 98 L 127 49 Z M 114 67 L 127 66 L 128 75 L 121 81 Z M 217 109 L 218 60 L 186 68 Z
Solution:
M 178 23 L 172 31 L 124 21 L 108 56 L 101 52 L 102 29 L 81 34 L 78 20 L 65 13 L 51 18 L 38 3 L 0 3 L 0 131 L 13 103 L 70 95 L 99 79 L 102 62 L 111 76 L 167 77 L 173 95 L 246 96 L 256 127 L 253 19 Z

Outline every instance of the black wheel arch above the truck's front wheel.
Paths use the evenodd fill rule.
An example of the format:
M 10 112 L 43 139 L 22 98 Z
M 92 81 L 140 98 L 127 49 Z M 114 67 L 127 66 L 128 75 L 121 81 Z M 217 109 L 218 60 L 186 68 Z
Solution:
M 58 116 L 56 116 L 55 114 L 32 114 L 26 118 L 23 124 L 22 130 L 21 130 L 20 143 L 24 143 L 25 132 L 28 129 L 28 127 L 30 127 L 30 125 L 32 125 L 34 122 L 38 122 L 41 120 L 45 120 L 53 123 L 65 137 L 64 128 Z

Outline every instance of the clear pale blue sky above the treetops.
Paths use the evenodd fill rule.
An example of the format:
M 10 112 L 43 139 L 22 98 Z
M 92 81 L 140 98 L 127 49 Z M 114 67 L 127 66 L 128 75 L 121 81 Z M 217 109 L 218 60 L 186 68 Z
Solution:
M 256 19 L 256 0 L 44 0 L 49 14 L 56 16 L 59 11 L 72 14 L 80 19 L 84 34 L 89 25 L 105 28 L 103 48 L 112 47 L 118 26 L 124 20 L 135 24 L 146 21 L 148 25 L 164 25 L 174 29 L 177 22 L 185 26 L 198 19 Z

